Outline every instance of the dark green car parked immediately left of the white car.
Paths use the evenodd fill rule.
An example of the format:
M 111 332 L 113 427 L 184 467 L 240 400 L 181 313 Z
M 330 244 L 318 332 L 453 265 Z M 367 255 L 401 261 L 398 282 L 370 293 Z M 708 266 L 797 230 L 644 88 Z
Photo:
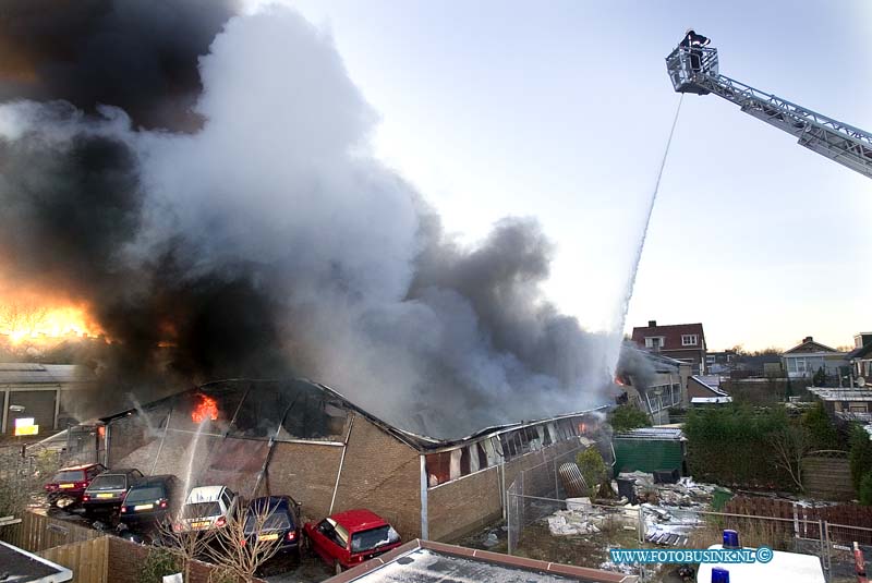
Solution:
M 121 502 L 119 521 L 142 530 L 170 520 L 183 495 L 179 478 L 173 475 L 148 476 L 128 490 Z

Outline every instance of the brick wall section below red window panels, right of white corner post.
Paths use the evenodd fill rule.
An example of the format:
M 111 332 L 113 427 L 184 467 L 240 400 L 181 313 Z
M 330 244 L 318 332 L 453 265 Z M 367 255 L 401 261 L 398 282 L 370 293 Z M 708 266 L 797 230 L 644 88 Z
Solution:
M 502 498 L 498 466 L 427 490 L 427 526 L 431 541 L 455 541 L 501 517 Z

